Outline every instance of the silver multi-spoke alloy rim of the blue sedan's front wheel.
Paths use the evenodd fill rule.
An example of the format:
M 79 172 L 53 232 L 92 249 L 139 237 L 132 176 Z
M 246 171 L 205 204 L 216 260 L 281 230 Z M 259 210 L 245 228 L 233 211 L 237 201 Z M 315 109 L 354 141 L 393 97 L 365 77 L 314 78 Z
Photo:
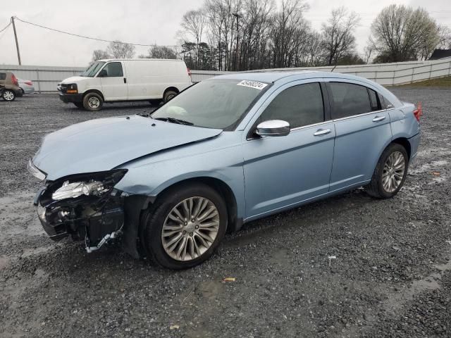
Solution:
M 169 212 L 161 230 L 161 242 L 171 258 L 192 261 L 211 247 L 218 230 L 218 208 L 209 199 L 194 196 Z

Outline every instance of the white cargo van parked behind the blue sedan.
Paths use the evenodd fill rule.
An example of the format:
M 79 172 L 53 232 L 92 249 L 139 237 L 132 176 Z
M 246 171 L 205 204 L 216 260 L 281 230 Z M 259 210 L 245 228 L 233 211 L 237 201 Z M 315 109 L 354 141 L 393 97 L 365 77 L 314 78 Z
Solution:
M 99 111 L 104 102 L 166 102 L 191 84 L 190 70 L 182 60 L 108 59 L 58 83 L 58 92 L 66 104 Z

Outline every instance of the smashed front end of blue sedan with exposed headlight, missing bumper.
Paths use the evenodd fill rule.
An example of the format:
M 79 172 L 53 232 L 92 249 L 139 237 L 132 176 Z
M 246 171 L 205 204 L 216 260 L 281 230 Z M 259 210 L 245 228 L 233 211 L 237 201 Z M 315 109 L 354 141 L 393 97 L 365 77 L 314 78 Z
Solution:
M 86 250 L 91 252 L 122 234 L 128 194 L 114 186 L 125 173 L 127 170 L 111 170 L 46 181 L 35 205 L 49 237 L 85 240 Z

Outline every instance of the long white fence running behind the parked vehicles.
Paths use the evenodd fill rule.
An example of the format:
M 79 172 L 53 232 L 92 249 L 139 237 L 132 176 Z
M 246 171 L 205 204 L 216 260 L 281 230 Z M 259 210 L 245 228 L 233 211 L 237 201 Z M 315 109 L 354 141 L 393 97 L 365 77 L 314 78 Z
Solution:
M 330 72 L 330 67 L 278 68 L 259 71 L 293 72 L 297 70 L 320 70 Z M 35 82 L 37 92 L 56 92 L 56 84 L 67 77 L 79 75 L 85 68 L 46 67 L 36 65 L 0 65 L 0 71 L 11 71 L 17 77 Z M 256 70 L 254 70 L 256 71 Z M 451 58 L 435 61 L 409 61 L 382 63 L 376 65 L 338 65 L 334 73 L 345 73 L 366 77 L 384 86 L 407 84 L 421 80 L 451 75 Z M 193 82 L 199 82 L 216 75 L 233 73 L 214 70 L 192 70 Z

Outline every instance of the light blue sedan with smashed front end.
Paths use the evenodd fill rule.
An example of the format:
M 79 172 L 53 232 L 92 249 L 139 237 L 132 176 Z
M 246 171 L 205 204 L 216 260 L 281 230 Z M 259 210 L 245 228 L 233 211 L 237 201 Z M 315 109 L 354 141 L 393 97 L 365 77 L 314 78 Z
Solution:
M 223 75 L 151 115 L 53 132 L 28 169 L 45 180 L 35 205 L 52 239 L 88 252 L 121 240 L 132 256 L 190 268 L 250 220 L 361 186 L 394 196 L 420 115 L 362 77 Z

